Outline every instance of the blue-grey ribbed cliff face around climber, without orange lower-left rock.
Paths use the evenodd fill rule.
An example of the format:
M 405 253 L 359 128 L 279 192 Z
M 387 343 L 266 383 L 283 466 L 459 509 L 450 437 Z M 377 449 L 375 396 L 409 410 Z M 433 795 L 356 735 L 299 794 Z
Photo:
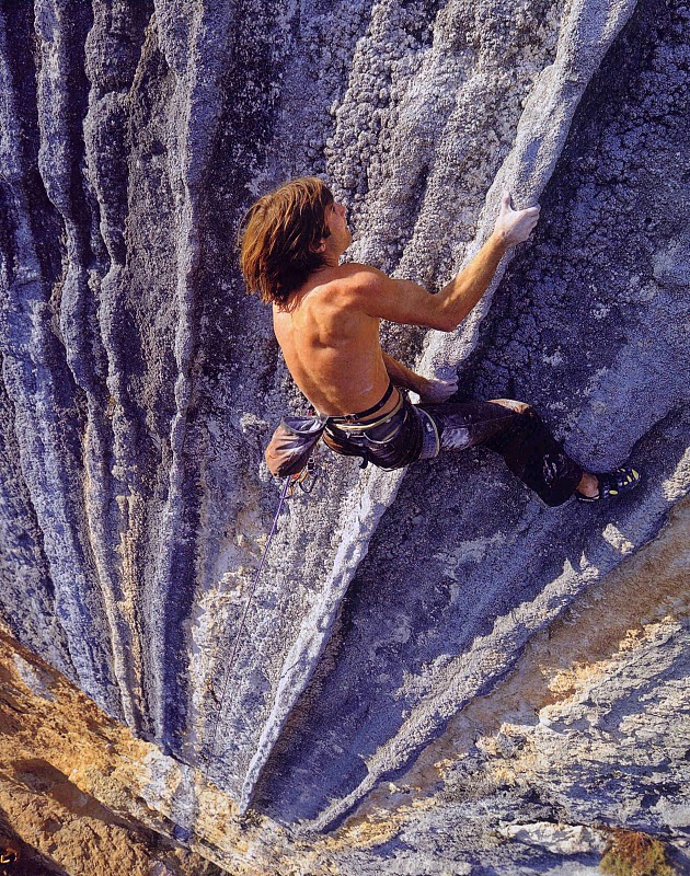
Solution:
M 238 872 L 269 843 L 285 873 L 547 872 L 594 865 L 607 826 L 685 854 L 687 557 L 591 600 L 690 485 L 689 20 L 662 0 L 3 8 L 0 611 L 179 764 L 179 838 L 207 830 L 210 781 L 257 819 Z M 540 199 L 465 324 L 384 345 L 645 482 L 551 510 L 483 450 L 394 473 L 324 456 L 239 630 L 278 498 L 262 450 L 303 400 L 233 240 L 256 195 L 314 172 L 349 207 L 348 255 L 430 289 L 502 187 Z M 582 613 L 553 702 L 532 696 L 526 655 L 536 672 Z

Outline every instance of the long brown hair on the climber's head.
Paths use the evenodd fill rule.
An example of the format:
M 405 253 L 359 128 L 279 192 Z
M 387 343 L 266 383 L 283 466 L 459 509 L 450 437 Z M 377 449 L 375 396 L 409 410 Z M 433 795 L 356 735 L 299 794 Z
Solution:
M 284 304 L 325 263 L 314 246 L 331 234 L 326 209 L 332 204 L 333 194 L 321 180 L 303 176 L 250 207 L 238 235 L 248 291 L 265 303 Z

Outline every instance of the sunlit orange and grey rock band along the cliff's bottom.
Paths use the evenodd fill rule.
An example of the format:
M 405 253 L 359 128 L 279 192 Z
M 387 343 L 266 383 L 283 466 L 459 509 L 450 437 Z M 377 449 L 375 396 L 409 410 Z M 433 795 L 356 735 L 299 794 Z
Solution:
M 324 834 L 240 818 L 203 770 L 136 739 L 0 633 L 0 839 L 10 821 L 25 862 L 100 876 L 123 862 L 147 876 L 211 876 L 209 862 L 237 876 L 594 876 L 607 828 L 626 825 L 662 838 L 685 873 L 689 522 L 686 500 Z

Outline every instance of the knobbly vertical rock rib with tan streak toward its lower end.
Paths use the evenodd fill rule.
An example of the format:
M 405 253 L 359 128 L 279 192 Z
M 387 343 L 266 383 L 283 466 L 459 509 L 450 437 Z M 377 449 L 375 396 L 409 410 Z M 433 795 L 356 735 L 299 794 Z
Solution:
M 89 400 L 87 502 L 125 719 L 140 733 L 150 731 L 141 618 L 136 604 L 142 506 L 148 491 L 136 464 L 138 454 L 145 451 L 140 437 L 143 415 L 127 392 L 130 362 L 123 350 L 127 323 L 123 325 L 122 320 L 122 309 L 126 308 L 122 286 L 126 283 L 129 91 L 149 15 L 148 3 L 131 9 L 96 3 L 85 41 L 90 92 L 83 138 L 88 182 L 97 199 L 100 220 L 97 227 L 93 221 L 93 234 L 100 235 L 100 250 L 105 252 L 84 266 L 80 285 L 84 293 L 91 291 L 84 295 L 91 309 L 88 323 L 76 332 L 84 335 L 91 327 L 96 330 L 99 382 L 97 387 L 84 387 Z M 97 306 L 92 307 L 94 293 Z

